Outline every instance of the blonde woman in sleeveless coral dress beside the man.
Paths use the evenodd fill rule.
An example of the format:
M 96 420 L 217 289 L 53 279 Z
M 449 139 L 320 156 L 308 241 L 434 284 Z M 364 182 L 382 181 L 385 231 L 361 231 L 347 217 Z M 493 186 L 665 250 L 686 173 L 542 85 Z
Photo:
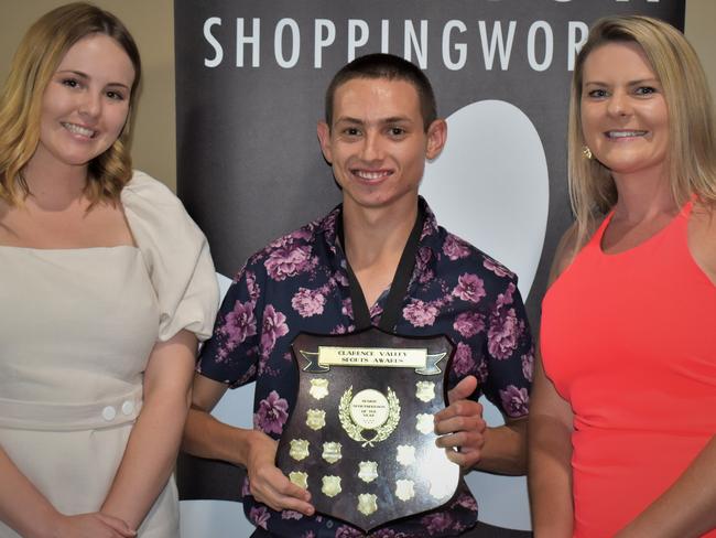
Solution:
M 716 536 L 715 141 L 684 36 L 598 21 L 530 410 L 538 538 Z

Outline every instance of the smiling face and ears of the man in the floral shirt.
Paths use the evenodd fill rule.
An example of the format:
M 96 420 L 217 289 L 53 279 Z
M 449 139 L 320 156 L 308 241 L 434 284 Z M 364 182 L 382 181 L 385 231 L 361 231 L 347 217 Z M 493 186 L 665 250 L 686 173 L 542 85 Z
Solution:
M 344 206 L 414 211 L 425 159 L 445 143 L 445 122 L 425 132 L 417 90 L 400 79 L 352 78 L 336 89 L 333 107 L 333 125 L 318 123 L 318 138 Z

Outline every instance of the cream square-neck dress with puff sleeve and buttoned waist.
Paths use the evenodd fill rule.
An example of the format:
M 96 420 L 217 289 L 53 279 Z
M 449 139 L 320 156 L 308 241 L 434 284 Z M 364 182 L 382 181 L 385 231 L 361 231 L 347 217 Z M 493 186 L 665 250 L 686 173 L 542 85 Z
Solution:
M 0 445 L 64 514 L 100 508 L 154 344 L 206 340 L 217 309 L 206 238 L 171 191 L 135 172 L 121 203 L 137 247 L 0 247 Z M 173 480 L 139 536 L 178 536 Z

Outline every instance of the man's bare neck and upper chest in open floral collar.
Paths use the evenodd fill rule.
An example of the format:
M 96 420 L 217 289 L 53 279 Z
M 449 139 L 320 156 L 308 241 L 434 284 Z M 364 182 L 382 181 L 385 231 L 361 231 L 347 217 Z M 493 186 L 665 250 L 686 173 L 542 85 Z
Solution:
M 417 217 L 417 198 L 403 207 L 344 203 L 344 249 L 370 308 L 390 287 Z

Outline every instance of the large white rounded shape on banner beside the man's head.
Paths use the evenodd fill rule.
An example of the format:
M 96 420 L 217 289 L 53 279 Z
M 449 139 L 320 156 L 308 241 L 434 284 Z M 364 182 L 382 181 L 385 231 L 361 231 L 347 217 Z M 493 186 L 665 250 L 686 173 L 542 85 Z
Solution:
M 550 183 L 542 141 L 514 105 L 484 100 L 447 118 L 447 143 L 428 163 L 421 194 L 437 222 L 534 281 L 547 225 Z

